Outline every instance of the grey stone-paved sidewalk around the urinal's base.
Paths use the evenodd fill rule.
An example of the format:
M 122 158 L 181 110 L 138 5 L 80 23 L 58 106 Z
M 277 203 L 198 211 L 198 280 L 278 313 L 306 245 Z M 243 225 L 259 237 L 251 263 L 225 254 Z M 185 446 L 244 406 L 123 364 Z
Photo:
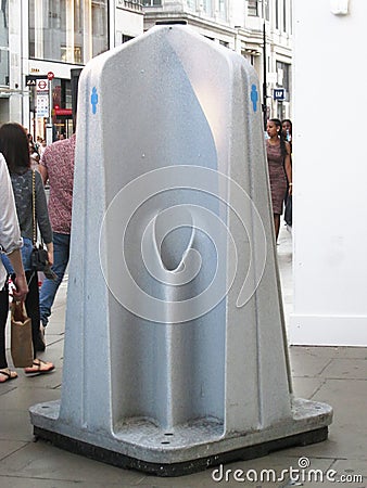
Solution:
M 287 320 L 292 307 L 292 242 L 284 227 L 281 228 L 277 252 Z M 0 385 L 1 488 L 367 487 L 366 348 L 291 347 L 295 396 L 324 401 L 334 409 L 329 439 L 225 465 L 224 471 L 231 470 L 227 471 L 227 480 L 225 472 L 222 480 L 219 472 L 215 472 L 213 478 L 213 470 L 179 478 L 157 478 L 71 454 L 43 441 L 35 442 L 28 408 L 60 398 L 66 287 L 67 280 L 56 297 L 46 335 L 48 346 L 43 357 L 54 361 L 56 370 L 49 375 L 31 378 L 18 370 L 17 380 Z M 300 458 L 305 458 L 300 461 L 304 465 L 311 463 L 309 468 L 321 470 L 324 483 L 315 478 L 307 480 L 309 468 L 304 471 L 305 481 L 302 478 L 298 483 L 290 480 L 288 472 L 291 467 L 300 467 Z M 242 470 L 242 473 L 237 473 L 237 480 L 233 476 L 236 470 Z M 281 477 L 282 470 L 287 473 L 283 479 L 255 481 L 254 477 L 257 475 L 260 478 L 262 470 L 274 470 L 268 475 L 277 477 Z M 356 478 L 359 475 L 364 476 L 362 480 Z

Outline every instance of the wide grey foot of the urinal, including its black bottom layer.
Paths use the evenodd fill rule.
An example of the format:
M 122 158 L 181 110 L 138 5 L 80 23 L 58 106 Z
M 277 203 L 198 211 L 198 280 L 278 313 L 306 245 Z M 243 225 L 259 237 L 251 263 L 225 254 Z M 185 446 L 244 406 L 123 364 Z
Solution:
M 60 401 L 30 408 L 36 438 L 114 466 L 156 476 L 182 476 L 280 449 L 321 442 L 328 437 L 332 409 L 296 398 L 292 418 L 268 428 L 224 435 L 223 424 L 201 419 L 166 432 L 150 421 L 130 419 L 118 432 L 99 433 L 60 422 Z

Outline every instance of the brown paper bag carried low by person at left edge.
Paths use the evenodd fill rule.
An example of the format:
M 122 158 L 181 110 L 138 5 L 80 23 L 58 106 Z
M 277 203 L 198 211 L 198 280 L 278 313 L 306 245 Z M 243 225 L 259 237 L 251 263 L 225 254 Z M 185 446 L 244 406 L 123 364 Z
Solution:
M 31 321 L 27 317 L 24 301 L 11 304 L 11 347 L 14 368 L 29 368 L 34 361 Z

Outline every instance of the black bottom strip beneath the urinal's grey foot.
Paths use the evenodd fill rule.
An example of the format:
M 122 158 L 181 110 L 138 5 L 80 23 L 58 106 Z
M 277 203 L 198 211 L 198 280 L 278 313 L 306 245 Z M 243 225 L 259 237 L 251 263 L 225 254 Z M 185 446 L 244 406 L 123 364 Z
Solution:
M 208 455 L 206 458 L 172 464 L 153 463 L 130 458 L 119 452 L 110 451 L 99 446 L 93 446 L 36 426 L 34 427 L 34 434 L 36 438 L 50 441 L 53 446 L 60 447 L 61 449 L 125 470 L 142 471 L 156 476 L 182 476 L 198 473 L 218 464 L 261 458 L 279 449 L 321 442 L 328 438 L 328 427 L 320 427 L 315 431 L 262 442 L 256 446 L 248 446 L 232 451 Z

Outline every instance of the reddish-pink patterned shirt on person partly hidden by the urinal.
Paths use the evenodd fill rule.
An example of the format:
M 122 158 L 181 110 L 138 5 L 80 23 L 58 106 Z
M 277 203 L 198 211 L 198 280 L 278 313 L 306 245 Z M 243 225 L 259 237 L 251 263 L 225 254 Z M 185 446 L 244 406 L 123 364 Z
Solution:
M 52 230 L 61 234 L 69 234 L 72 229 L 75 142 L 75 134 L 53 142 L 45 149 L 40 160 L 49 176 Z

